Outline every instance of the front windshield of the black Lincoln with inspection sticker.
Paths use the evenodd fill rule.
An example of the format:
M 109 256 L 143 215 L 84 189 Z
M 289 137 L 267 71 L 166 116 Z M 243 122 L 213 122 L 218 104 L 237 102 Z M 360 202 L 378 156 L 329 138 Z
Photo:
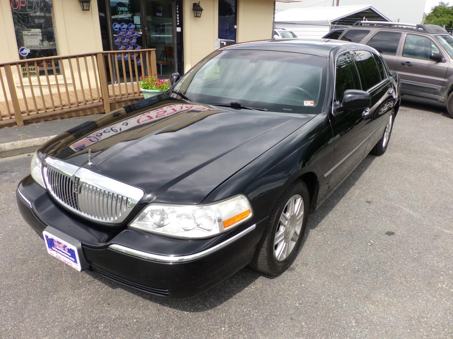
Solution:
M 327 60 L 292 52 L 216 51 L 183 76 L 175 90 L 202 104 L 231 104 L 272 112 L 320 113 Z

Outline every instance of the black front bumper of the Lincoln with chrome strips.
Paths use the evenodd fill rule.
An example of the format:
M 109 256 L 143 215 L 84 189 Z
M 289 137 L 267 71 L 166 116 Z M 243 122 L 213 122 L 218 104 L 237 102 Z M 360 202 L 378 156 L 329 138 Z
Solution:
M 103 229 L 78 219 L 59 207 L 31 177 L 19 183 L 16 193 L 19 211 L 38 235 L 43 237 L 43 230 L 52 226 L 81 241 L 92 272 L 175 299 L 202 293 L 246 266 L 266 221 L 245 223 L 210 239 L 173 239 L 128 228 Z

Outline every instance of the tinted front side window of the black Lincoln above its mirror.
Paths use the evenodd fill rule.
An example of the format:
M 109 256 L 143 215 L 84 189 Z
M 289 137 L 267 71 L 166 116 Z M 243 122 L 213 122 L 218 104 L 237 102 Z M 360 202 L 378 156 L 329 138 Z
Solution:
M 335 94 L 337 101 L 342 100 L 347 89 L 361 89 L 357 68 L 349 53 L 344 53 L 337 58 L 335 72 Z

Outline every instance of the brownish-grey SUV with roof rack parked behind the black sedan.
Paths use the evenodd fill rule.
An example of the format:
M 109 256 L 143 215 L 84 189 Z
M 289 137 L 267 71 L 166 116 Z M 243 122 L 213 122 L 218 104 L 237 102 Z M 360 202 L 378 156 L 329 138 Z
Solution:
M 401 77 L 401 93 L 445 103 L 453 118 L 453 37 L 440 26 L 360 21 L 339 38 L 376 48 Z

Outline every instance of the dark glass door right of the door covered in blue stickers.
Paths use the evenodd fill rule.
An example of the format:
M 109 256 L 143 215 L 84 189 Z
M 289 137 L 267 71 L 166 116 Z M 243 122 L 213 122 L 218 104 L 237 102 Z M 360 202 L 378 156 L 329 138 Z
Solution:
M 145 0 L 145 47 L 156 49 L 159 78 L 175 71 L 173 10 L 173 1 Z

